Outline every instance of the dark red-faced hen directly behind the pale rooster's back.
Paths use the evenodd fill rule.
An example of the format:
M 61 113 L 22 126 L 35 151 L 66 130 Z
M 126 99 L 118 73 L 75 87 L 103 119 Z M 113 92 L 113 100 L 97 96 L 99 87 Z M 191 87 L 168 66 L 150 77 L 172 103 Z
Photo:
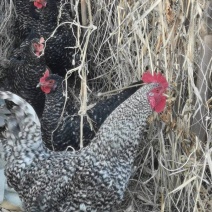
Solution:
M 89 144 L 90 140 L 95 136 L 101 124 L 107 116 L 125 99 L 132 95 L 138 88 L 129 88 L 109 99 L 102 100 L 92 109 L 87 111 L 88 117 L 91 119 L 93 128 L 91 128 L 86 117 L 83 119 L 83 145 Z M 81 117 L 78 115 L 80 110 L 79 102 L 75 94 L 77 88 L 73 88 L 73 92 L 68 90 L 68 100 L 65 110 L 65 81 L 62 77 L 52 74 L 48 71 L 40 79 L 39 86 L 46 94 L 45 107 L 41 119 L 42 138 L 46 146 L 55 151 L 78 150 L 80 147 L 80 123 Z M 64 110 L 64 114 L 63 113 Z

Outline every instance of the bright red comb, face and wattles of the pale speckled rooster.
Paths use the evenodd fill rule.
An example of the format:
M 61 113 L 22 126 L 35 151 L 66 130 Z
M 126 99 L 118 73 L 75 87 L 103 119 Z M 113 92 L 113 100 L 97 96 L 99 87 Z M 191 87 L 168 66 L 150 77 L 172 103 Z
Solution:
M 157 113 L 162 112 L 166 106 L 166 96 L 163 95 L 168 88 L 168 82 L 166 78 L 160 72 L 154 72 L 151 74 L 151 72 L 148 71 L 143 74 L 142 80 L 147 84 L 158 83 L 158 87 L 152 89 L 148 94 L 148 100 L 151 108 L 154 111 Z

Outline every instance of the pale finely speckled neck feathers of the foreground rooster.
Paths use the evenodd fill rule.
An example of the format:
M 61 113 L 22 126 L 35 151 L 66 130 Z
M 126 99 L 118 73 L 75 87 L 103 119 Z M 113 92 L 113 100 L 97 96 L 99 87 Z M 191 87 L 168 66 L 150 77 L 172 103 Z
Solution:
M 157 84 L 142 87 L 118 106 L 100 127 L 91 145 L 82 152 L 98 153 L 100 160 L 117 157 L 132 163 L 136 147 L 142 139 L 141 132 L 153 112 L 147 93 L 154 87 Z

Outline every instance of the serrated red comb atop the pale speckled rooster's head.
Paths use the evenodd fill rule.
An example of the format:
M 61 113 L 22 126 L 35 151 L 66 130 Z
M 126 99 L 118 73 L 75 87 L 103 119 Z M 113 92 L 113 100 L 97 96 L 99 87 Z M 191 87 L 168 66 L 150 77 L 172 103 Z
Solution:
M 159 83 L 164 89 L 168 87 L 168 82 L 166 78 L 160 72 L 159 73 L 154 72 L 153 75 L 151 74 L 150 71 L 145 72 L 141 79 L 145 83 L 152 83 L 152 82 Z

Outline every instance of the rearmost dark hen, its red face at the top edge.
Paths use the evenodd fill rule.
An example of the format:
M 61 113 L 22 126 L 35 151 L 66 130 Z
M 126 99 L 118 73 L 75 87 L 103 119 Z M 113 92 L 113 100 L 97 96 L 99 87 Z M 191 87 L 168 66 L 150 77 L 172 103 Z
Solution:
M 46 64 L 53 73 L 65 76 L 66 71 L 74 67 L 75 56 L 78 57 L 79 51 L 75 48 L 77 28 L 71 24 L 73 18 L 67 4 L 64 4 L 61 10 L 57 0 L 34 0 L 34 8 L 37 8 L 36 16 L 39 17 L 39 26 L 36 26 L 35 30 L 46 40 Z M 61 25 L 58 27 L 59 24 Z

